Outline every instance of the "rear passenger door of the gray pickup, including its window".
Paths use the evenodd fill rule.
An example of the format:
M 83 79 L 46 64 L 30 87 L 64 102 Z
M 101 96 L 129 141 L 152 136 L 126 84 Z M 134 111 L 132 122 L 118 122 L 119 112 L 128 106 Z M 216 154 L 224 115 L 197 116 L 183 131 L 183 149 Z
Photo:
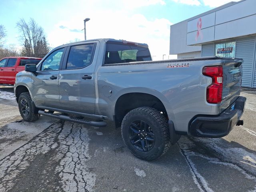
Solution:
M 95 113 L 94 69 L 96 59 L 93 59 L 95 47 L 96 42 L 69 48 L 69 55 L 59 74 L 62 109 L 87 114 Z

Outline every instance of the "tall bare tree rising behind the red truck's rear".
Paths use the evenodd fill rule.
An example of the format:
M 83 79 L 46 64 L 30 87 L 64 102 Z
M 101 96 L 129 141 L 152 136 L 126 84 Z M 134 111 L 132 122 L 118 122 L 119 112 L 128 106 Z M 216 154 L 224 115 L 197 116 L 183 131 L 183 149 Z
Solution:
M 21 33 L 23 56 L 43 57 L 49 52 L 44 29 L 33 18 L 29 22 L 20 19 L 16 26 Z

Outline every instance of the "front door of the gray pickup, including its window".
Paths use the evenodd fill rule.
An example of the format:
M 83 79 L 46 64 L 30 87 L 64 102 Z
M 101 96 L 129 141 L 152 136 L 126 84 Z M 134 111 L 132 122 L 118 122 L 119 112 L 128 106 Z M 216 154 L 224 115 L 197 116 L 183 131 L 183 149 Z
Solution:
M 32 96 L 36 106 L 60 107 L 58 78 L 64 57 L 64 48 L 55 50 L 40 64 L 36 75 L 32 74 Z

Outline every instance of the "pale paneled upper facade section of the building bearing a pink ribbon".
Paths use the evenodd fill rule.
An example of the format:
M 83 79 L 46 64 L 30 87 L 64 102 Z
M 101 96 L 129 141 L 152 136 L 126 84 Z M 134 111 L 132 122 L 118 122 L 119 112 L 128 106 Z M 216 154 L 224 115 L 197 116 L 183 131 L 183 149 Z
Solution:
M 255 6 L 256 0 L 241 0 L 216 12 L 193 17 L 188 20 L 187 45 L 256 34 Z

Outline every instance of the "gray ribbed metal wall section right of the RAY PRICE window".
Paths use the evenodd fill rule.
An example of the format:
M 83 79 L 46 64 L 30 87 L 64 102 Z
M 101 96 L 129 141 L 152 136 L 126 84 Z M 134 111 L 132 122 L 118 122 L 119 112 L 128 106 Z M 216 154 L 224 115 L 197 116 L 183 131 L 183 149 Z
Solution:
M 236 58 L 242 58 L 244 60 L 242 86 L 253 86 L 253 70 L 255 65 L 255 36 L 247 38 L 238 38 L 236 40 Z M 254 73 L 255 74 L 255 73 Z

